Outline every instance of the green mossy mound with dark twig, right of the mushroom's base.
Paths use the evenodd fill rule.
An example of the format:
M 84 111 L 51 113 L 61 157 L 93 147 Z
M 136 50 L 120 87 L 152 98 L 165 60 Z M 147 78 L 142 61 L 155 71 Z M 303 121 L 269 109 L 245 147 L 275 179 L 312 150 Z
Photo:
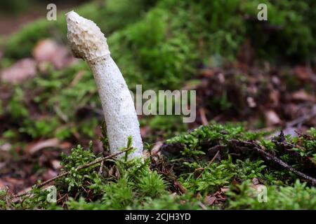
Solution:
M 215 193 L 221 187 L 232 183 L 234 179 L 246 181 L 256 178 L 263 183 L 275 186 L 293 183 L 298 176 L 287 170 L 271 167 L 268 162 L 258 158 L 258 155 L 253 155 L 251 148 L 243 149 L 243 153 L 246 153 L 244 160 L 239 159 L 244 156 L 238 154 L 237 159 L 232 160 L 229 151 L 231 147 L 235 146 L 232 146 L 230 141 L 254 141 L 256 139 L 258 144 L 273 155 L 298 170 L 304 170 L 306 166 L 309 166 L 304 161 L 313 160 L 313 155 L 315 155 L 315 139 L 309 135 L 302 135 L 298 137 L 298 141 L 298 139 L 280 135 L 272 140 L 266 140 L 262 138 L 263 136 L 264 133 L 246 132 L 238 125 L 210 125 L 173 137 L 166 142 L 170 144 L 169 147 L 178 148 L 178 153 L 169 155 L 171 156 L 170 162 L 173 162 L 173 170 L 180 176 L 180 182 L 192 193 L 202 195 Z M 298 156 L 291 156 L 282 150 L 284 144 L 293 144 L 293 141 L 296 142 L 297 151 L 300 152 Z M 215 160 L 210 164 L 209 160 L 215 156 L 209 157 L 209 150 L 212 147 L 219 147 L 218 152 L 220 152 L 221 159 L 220 162 Z M 168 151 L 168 149 L 166 150 Z M 295 148 L 292 149 L 292 151 L 295 150 Z

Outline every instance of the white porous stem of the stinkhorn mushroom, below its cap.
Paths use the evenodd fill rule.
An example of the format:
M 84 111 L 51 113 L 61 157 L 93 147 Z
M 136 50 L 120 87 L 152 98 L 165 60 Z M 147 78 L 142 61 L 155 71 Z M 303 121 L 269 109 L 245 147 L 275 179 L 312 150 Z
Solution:
M 131 93 L 113 59 L 108 56 L 89 64 L 98 85 L 98 91 L 107 125 L 110 150 L 126 147 L 132 137 L 132 146 L 137 148 L 132 157 L 143 155 L 143 141 Z

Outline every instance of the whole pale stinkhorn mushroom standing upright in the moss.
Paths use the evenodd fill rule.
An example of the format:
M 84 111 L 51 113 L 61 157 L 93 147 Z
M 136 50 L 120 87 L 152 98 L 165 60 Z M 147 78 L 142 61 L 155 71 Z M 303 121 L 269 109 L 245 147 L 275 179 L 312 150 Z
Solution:
M 84 59 L 91 68 L 98 86 L 110 151 L 117 152 L 126 147 L 132 138 L 130 157 L 142 158 L 143 141 L 133 99 L 121 71 L 110 56 L 110 50 L 100 28 L 91 20 L 74 11 L 66 14 L 67 38 L 74 57 Z

